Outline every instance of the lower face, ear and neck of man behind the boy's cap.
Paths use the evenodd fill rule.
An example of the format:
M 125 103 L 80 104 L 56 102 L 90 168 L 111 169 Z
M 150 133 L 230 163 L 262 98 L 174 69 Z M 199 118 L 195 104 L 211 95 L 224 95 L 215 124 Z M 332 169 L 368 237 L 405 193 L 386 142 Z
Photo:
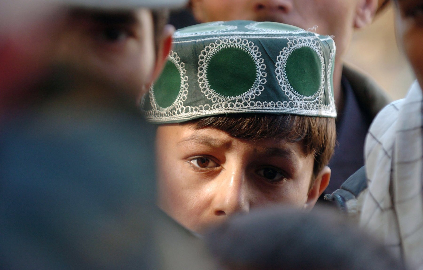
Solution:
M 334 35 L 337 55 L 343 55 L 354 28 L 368 25 L 377 0 L 192 0 L 199 22 L 253 20 L 281 22 Z

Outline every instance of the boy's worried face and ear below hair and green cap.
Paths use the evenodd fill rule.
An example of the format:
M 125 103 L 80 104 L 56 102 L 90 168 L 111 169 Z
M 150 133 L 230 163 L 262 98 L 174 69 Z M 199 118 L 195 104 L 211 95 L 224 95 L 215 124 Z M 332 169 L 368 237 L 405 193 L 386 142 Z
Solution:
M 199 233 L 274 203 L 310 209 L 330 178 L 325 167 L 310 188 L 314 157 L 302 142 L 242 140 L 192 124 L 159 126 L 157 164 L 159 206 Z

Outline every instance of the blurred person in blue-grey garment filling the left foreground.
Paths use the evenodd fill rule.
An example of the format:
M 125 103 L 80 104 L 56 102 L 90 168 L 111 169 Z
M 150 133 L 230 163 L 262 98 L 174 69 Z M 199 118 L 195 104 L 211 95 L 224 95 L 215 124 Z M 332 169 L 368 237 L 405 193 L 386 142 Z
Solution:
M 207 269 L 201 244 L 154 207 L 154 132 L 137 107 L 170 50 L 163 7 L 184 1 L 57 3 L 0 36 L 18 37 L 0 40 L 16 65 L 1 90 L 13 99 L 30 82 L 3 106 L 0 268 Z

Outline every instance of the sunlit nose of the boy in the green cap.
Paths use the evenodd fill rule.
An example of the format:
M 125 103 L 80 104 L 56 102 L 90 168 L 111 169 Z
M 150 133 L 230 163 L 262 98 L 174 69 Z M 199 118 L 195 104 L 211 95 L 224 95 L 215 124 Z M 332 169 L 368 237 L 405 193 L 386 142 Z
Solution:
M 214 194 L 212 210 L 215 216 L 231 216 L 236 213 L 248 213 L 248 187 L 245 173 L 234 170 L 221 174 L 220 183 Z

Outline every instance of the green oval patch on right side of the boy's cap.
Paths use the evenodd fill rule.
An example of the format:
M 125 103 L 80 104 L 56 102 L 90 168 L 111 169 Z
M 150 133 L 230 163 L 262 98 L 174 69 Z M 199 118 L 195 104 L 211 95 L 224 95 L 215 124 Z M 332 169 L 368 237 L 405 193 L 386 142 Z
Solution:
M 321 62 L 319 55 L 307 47 L 295 49 L 286 60 L 286 78 L 299 94 L 312 96 L 321 84 Z

